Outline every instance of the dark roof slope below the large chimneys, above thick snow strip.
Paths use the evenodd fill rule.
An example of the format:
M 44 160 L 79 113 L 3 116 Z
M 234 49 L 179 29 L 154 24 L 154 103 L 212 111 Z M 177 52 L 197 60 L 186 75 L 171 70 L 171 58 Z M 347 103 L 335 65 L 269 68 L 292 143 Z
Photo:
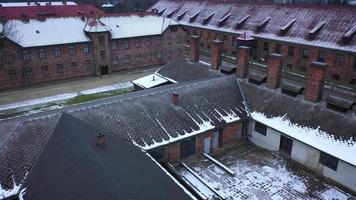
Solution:
M 256 111 L 268 117 L 284 116 L 291 122 L 318 128 L 329 134 L 348 140 L 356 137 L 356 117 L 341 114 L 325 108 L 322 103 L 305 101 L 302 96 L 290 97 L 265 86 L 240 82 L 241 90 L 251 112 Z

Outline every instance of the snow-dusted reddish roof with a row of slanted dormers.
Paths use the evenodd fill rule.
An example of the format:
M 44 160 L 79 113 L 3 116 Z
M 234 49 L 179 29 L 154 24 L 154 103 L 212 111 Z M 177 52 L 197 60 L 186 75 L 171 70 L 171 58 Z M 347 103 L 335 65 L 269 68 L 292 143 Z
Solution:
M 343 35 L 350 32 L 356 25 L 355 7 L 278 5 L 266 2 L 247 4 L 244 3 L 244 0 L 228 0 L 227 2 L 160 0 L 151 9 L 157 9 L 158 13 L 164 10 L 162 16 L 165 17 L 176 10 L 172 19 L 182 25 L 236 34 L 248 31 L 255 38 L 356 52 L 356 34 L 354 33 L 356 31 L 351 31 L 353 34 L 351 38 L 348 37 L 348 40 L 343 39 Z M 188 11 L 184 16 L 179 16 L 186 10 Z M 196 13 L 199 14 L 194 17 L 194 20 L 190 20 Z M 206 20 L 204 23 L 204 19 L 211 16 L 212 13 L 215 14 L 207 23 Z M 219 25 L 219 22 L 229 13 L 231 13 L 229 18 L 223 25 L 221 23 Z M 246 19 L 243 20 L 243 23 L 237 27 L 237 23 L 244 18 Z M 267 21 L 268 18 L 270 20 Z M 294 22 L 291 23 L 292 21 Z M 313 31 L 313 29 L 315 30 Z M 312 37 L 310 37 L 310 33 Z

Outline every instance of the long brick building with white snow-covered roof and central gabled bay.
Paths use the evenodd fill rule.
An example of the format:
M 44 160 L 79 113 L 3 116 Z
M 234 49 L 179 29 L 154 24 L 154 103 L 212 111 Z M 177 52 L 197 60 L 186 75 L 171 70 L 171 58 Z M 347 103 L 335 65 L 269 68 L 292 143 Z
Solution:
M 8 20 L 0 89 L 161 65 L 183 56 L 183 29 L 145 15 Z M 9 31 L 7 31 L 9 30 Z

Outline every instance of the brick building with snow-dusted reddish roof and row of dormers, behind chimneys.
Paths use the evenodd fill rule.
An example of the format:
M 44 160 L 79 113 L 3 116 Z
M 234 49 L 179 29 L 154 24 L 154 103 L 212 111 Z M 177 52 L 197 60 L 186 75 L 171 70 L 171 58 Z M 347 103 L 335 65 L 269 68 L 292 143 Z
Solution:
M 327 79 L 356 84 L 354 7 L 160 0 L 151 10 L 200 36 L 202 52 L 209 53 L 218 39 L 226 59 L 245 45 L 256 61 L 266 62 L 271 53 L 281 53 L 286 58 L 283 68 L 300 74 L 307 72 L 310 62 L 322 61 L 329 66 Z

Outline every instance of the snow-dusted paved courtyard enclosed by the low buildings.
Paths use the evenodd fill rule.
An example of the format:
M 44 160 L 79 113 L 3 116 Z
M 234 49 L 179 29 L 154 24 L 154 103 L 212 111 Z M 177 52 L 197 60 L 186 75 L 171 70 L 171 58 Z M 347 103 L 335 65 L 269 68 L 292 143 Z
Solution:
M 207 199 L 355 199 L 282 153 L 249 142 L 212 157 L 234 174 L 203 155 L 184 159 L 177 167 L 183 179 Z

